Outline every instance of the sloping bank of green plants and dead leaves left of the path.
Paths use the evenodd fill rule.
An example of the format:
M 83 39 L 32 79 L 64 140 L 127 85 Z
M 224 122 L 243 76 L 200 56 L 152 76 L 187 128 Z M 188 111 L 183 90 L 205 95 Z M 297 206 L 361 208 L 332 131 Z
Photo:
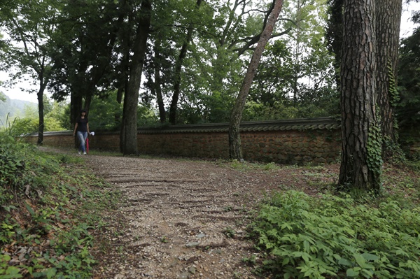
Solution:
M 119 194 L 80 157 L 0 134 L 0 278 L 91 278 L 92 233 Z

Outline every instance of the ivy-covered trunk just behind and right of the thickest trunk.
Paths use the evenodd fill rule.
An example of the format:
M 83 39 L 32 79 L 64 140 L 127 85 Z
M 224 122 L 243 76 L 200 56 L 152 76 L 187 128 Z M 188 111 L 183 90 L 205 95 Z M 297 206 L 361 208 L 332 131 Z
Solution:
M 396 75 L 402 0 L 377 1 L 377 103 L 381 115 L 381 132 L 384 139 L 384 157 L 392 155 L 389 145 L 396 145 L 394 129 Z M 390 152 L 385 152 L 386 150 Z

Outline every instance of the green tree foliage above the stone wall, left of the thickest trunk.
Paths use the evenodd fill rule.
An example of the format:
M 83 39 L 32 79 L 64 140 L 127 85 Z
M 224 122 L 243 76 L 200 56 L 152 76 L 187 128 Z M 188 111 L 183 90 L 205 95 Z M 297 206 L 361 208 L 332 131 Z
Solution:
M 333 56 L 326 51 L 323 35 L 325 2 L 285 1 L 246 104 L 246 120 L 337 114 Z M 205 1 L 199 7 L 196 3 L 153 3 L 140 106 L 152 108 L 161 122 L 167 121 L 170 107 L 176 109 L 179 124 L 229 121 L 272 1 Z M 110 103 L 122 106 L 140 6 L 141 1 L 127 6 L 124 1 L 103 0 L 83 6 L 72 1 L 9 3 L 1 11 L 3 31 L 12 40 L 26 34 L 31 44 L 39 41 L 45 71 L 32 71 L 25 64 L 36 50 L 31 44 L 25 52 L 3 40 L 8 43 L 3 57 L 13 62 L 6 66 L 10 71 L 27 69 L 34 80 L 43 76 L 55 99 L 71 101 L 67 117 L 77 116 L 81 106 L 89 109 L 96 99 L 106 100 L 109 92 Z M 15 15 L 20 15 L 19 21 L 13 20 Z M 21 33 L 15 31 L 18 28 Z M 111 118 L 106 117 L 104 128 L 118 127 L 120 118 Z

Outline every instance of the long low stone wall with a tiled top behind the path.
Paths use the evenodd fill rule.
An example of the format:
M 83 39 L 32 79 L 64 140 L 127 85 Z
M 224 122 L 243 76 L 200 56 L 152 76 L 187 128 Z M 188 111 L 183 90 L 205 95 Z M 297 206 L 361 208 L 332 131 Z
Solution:
M 341 150 L 339 128 L 339 122 L 329 117 L 243 122 L 240 134 L 244 159 L 279 164 L 335 162 Z M 28 140 L 36 143 L 36 135 Z M 72 132 L 46 132 L 43 144 L 73 146 Z M 91 150 L 118 152 L 119 134 L 95 131 L 89 137 L 89 145 Z M 143 155 L 228 159 L 228 123 L 142 127 L 138 147 Z

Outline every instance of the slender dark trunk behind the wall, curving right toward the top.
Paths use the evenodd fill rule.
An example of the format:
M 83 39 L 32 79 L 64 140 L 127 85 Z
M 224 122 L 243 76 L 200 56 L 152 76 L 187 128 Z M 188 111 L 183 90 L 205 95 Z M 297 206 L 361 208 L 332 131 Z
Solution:
M 197 0 L 196 7 L 200 8 L 202 0 Z M 186 58 L 188 45 L 193 38 L 193 24 L 190 24 L 188 27 L 187 38 L 184 41 L 181 51 L 179 52 L 178 60 L 175 64 L 175 73 L 174 73 L 174 94 L 172 95 L 171 106 L 169 107 L 169 122 L 171 124 L 176 124 L 176 108 L 178 107 L 179 94 L 181 92 L 181 69 L 183 65 L 183 60 Z

